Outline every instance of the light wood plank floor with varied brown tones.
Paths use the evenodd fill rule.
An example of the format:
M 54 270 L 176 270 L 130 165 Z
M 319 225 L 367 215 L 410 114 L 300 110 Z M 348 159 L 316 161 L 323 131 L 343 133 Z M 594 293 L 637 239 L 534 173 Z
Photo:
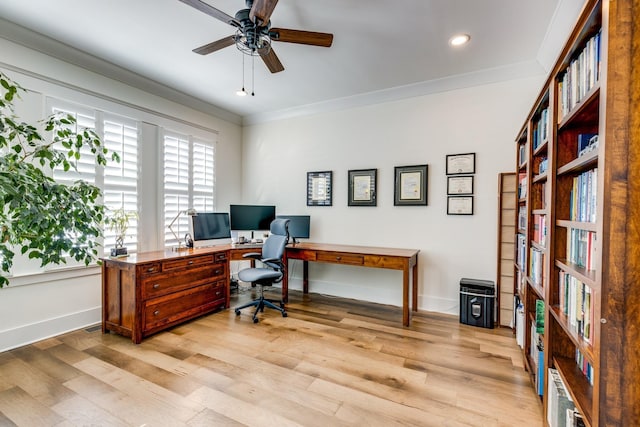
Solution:
M 140 345 L 89 328 L 0 353 L 0 425 L 542 425 L 510 330 L 290 298 L 256 325 L 226 310 Z

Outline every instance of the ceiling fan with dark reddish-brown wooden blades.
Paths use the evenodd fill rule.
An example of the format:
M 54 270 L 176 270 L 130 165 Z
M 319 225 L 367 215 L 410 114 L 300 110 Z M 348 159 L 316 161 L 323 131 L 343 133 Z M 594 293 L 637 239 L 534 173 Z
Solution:
M 195 53 L 200 55 L 208 55 L 225 47 L 236 45 L 238 49 L 248 55 L 260 56 L 269 71 L 278 73 L 284 70 L 284 66 L 271 46 L 272 41 L 321 47 L 330 47 L 333 42 L 333 34 L 329 33 L 271 28 L 269 18 L 278 4 L 278 0 L 245 0 L 247 8 L 240 9 L 235 17 L 227 15 L 202 0 L 180 1 L 236 28 L 236 33 L 231 36 L 193 49 Z

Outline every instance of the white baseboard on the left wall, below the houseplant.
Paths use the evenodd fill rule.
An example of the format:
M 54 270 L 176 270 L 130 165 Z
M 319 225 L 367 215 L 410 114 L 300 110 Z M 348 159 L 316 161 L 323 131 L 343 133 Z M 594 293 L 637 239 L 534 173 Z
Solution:
M 102 319 L 102 308 L 94 307 L 64 316 L 42 320 L 14 329 L 0 331 L 0 352 L 36 341 L 95 325 Z

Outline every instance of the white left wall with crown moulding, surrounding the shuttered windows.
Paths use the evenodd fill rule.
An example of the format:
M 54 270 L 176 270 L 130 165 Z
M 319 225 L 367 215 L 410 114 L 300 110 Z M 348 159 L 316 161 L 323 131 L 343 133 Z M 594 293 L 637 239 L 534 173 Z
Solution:
M 111 104 L 129 111 L 143 124 L 142 176 L 139 192 L 141 250 L 158 248 L 158 144 L 156 125 L 196 126 L 218 132 L 216 145 L 217 206 L 226 210 L 241 191 L 239 125 L 168 99 L 127 86 L 0 38 L 0 68 L 29 93 L 19 113 L 33 121 L 44 114 L 44 99 L 53 96 L 98 109 Z M 164 117 L 162 123 L 152 117 Z M 172 121 L 175 123 L 171 124 Z M 14 277 L 0 289 L 0 351 L 101 321 L 101 282 L 97 267 Z

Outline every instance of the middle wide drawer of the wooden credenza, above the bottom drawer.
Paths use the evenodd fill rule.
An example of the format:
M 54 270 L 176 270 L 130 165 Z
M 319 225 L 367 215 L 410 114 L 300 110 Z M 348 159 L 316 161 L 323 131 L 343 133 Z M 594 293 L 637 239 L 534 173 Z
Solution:
M 158 274 L 142 279 L 142 297 L 155 298 L 218 279 L 226 280 L 226 264 Z

